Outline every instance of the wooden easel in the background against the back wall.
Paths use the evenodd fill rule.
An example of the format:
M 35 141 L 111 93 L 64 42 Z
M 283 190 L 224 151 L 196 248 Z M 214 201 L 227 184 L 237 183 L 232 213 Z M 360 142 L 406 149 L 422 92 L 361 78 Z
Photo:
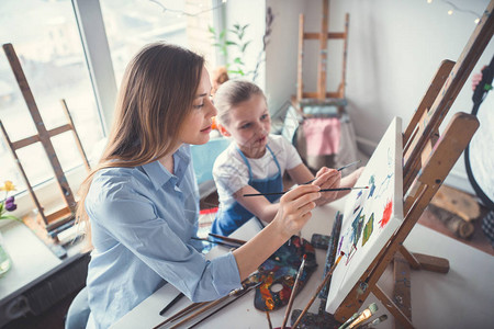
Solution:
M 306 33 L 304 31 L 304 15 L 299 16 L 299 54 L 297 54 L 297 75 L 296 75 L 296 95 L 292 97 L 292 103 L 301 114 L 305 117 L 311 117 L 311 114 L 304 114 L 303 107 L 306 105 L 327 105 L 337 106 L 338 114 L 340 115 L 345 109 L 345 77 L 347 66 L 347 46 L 348 46 L 348 26 L 350 16 L 347 13 L 345 15 L 345 32 L 330 33 L 328 32 L 328 16 L 329 16 L 329 0 L 323 0 L 323 21 L 319 33 Z M 304 92 L 303 84 L 303 57 L 304 57 L 304 41 L 305 39 L 318 39 L 319 41 L 319 58 L 318 58 L 318 75 L 317 75 L 317 91 Z M 327 41 L 328 39 L 343 39 L 344 41 L 344 54 L 343 54 L 343 69 L 341 81 L 336 92 L 326 91 L 326 78 L 327 78 Z

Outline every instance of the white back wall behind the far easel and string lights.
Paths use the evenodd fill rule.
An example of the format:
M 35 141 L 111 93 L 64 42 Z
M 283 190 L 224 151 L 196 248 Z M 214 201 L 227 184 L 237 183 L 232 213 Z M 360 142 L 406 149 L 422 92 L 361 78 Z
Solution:
M 490 1 L 451 2 L 462 10 L 482 15 Z M 295 93 L 299 12 L 305 14 L 305 31 L 318 32 L 322 1 L 267 0 L 267 5 L 273 9 L 276 18 L 272 41 L 267 49 L 266 89 L 271 97 L 271 109 L 278 109 Z M 345 13 L 350 14 L 347 109 L 359 137 L 378 143 L 395 115 L 401 116 L 406 125 L 440 61 L 458 60 L 475 29 L 475 16 L 459 11 L 448 15 L 449 9 L 451 5 L 440 0 L 433 3 L 426 0 L 330 1 L 330 32 L 341 32 Z M 307 45 L 304 55 L 304 83 L 311 90 L 315 90 L 316 46 Z M 333 49 L 335 55 L 332 55 Z M 335 76 L 339 82 L 340 46 L 336 45 L 328 52 L 328 89 L 334 90 Z M 491 39 L 473 72 L 487 65 L 493 54 L 494 42 Z M 308 61 L 310 56 L 314 56 L 314 65 Z M 333 76 L 332 69 L 335 70 Z M 441 129 L 453 113 L 471 111 L 471 97 L 469 79 Z M 462 158 L 447 183 L 473 193 Z

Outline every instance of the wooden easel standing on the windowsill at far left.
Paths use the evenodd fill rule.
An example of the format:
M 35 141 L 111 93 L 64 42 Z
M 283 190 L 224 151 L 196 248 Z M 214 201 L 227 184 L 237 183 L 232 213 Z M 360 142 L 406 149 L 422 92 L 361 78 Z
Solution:
M 3 137 L 7 141 L 7 145 L 9 146 L 9 148 L 11 150 L 11 154 L 12 154 L 12 156 L 15 160 L 15 163 L 19 168 L 19 171 L 21 172 L 21 174 L 25 181 L 25 184 L 27 186 L 27 191 L 30 192 L 31 198 L 33 200 L 33 202 L 37 208 L 37 212 L 38 212 L 36 218 L 26 217 L 26 218 L 24 218 L 24 223 L 48 247 L 50 247 L 52 250 L 58 257 L 63 258 L 65 256 L 64 254 L 65 251 L 60 249 L 61 247 L 57 246 L 57 242 L 58 242 L 57 236 L 64 228 L 67 228 L 67 226 L 70 226 L 74 223 L 74 219 L 75 219 L 74 214 L 76 212 L 76 201 L 75 201 L 74 194 L 70 190 L 70 186 L 67 182 L 65 173 L 61 169 L 60 162 L 58 161 L 58 158 L 55 154 L 55 149 L 53 147 L 50 138 L 55 137 L 61 133 L 71 131 L 74 134 L 74 138 L 76 140 L 76 145 L 79 150 L 79 154 L 81 155 L 83 163 L 88 171 L 90 171 L 90 164 L 89 164 L 89 161 L 83 151 L 82 144 L 80 143 L 79 135 L 76 132 L 74 121 L 70 116 L 70 113 L 68 111 L 65 100 L 61 100 L 61 107 L 67 116 L 68 124 L 65 124 L 63 126 L 58 126 L 58 127 L 47 131 L 45 127 L 45 124 L 43 123 L 43 120 L 42 120 L 42 116 L 37 109 L 36 102 L 34 101 L 33 93 L 31 92 L 30 86 L 24 76 L 24 71 L 21 67 L 21 64 L 19 61 L 19 58 L 15 54 L 15 50 L 14 50 L 12 44 L 4 44 L 3 50 L 7 55 L 7 58 L 9 59 L 12 71 L 15 76 L 15 79 L 21 89 L 22 95 L 25 100 L 25 103 L 31 113 L 31 116 L 34 121 L 34 125 L 37 129 L 36 135 L 33 135 L 33 136 L 30 136 L 30 137 L 16 140 L 16 141 L 11 141 L 9 138 L 9 135 L 7 134 L 5 127 L 3 126 L 2 122 L 0 121 L 0 127 L 3 133 Z M 50 214 L 45 214 L 44 207 L 41 205 L 38 198 L 36 197 L 36 194 L 34 193 L 34 190 L 27 179 L 24 168 L 22 167 L 21 161 L 16 154 L 18 149 L 30 146 L 34 143 L 41 143 L 43 145 L 43 148 L 45 149 L 45 152 L 49 160 L 49 163 L 52 164 L 52 168 L 54 170 L 55 178 L 57 180 L 58 188 L 60 190 L 60 194 L 61 194 L 61 197 L 65 203 L 65 207 L 63 207 L 61 209 L 55 211 Z

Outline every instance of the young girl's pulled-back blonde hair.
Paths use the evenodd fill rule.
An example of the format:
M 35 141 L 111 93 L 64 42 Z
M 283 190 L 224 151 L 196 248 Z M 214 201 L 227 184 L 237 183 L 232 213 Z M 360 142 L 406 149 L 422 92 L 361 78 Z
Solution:
M 229 110 L 242 102 L 248 101 L 252 95 L 265 93 L 256 84 L 247 80 L 228 80 L 217 89 L 214 94 L 214 106 L 217 110 L 217 122 L 222 125 L 229 124 Z

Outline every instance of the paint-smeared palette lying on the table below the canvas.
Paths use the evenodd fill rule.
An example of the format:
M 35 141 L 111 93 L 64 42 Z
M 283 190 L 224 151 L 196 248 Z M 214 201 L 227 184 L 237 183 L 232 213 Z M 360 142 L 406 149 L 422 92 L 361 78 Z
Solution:
M 296 272 L 306 254 L 305 266 L 299 279 L 297 292 L 302 291 L 311 274 L 317 266 L 314 247 L 306 240 L 293 236 L 290 242 L 280 247 L 255 274 L 257 282 L 262 282 L 256 288 L 254 306 L 262 311 L 276 310 L 289 303 Z

